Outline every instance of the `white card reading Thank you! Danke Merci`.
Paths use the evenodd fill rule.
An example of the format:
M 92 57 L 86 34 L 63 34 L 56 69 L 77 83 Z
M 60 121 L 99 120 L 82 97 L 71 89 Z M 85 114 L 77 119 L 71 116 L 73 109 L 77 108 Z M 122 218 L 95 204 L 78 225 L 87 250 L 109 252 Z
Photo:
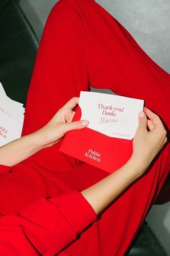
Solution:
M 89 129 L 126 140 L 135 136 L 143 104 L 140 99 L 84 91 L 79 98 L 81 120 L 89 120 Z

